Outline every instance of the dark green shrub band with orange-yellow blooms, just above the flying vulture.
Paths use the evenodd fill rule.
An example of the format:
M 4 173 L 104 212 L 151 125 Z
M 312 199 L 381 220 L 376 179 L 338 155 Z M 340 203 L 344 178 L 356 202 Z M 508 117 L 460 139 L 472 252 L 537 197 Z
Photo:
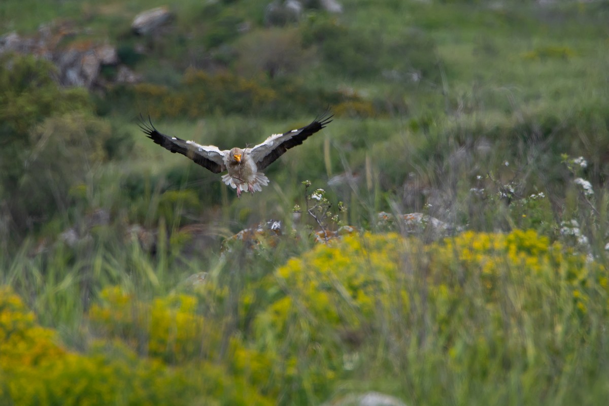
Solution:
M 267 62 L 270 65 L 263 69 L 269 76 L 302 65 L 298 62 L 302 55 L 292 55 L 294 60 L 289 57 L 281 61 L 276 60 L 276 55 L 269 55 Z M 252 60 L 247 60 L 245 56 L 239 61 L 244 71 L 250 69 L 247 66 L 253 63 Z M 262 58 L 256 63 L 266 62 Z M 244 76 L 228 71 L 209 73 L 187 69 L 181 84 L 176 88 L 152 83 L 115 86 L 107 99 L 99 100 L 98 108 L 107 113 L 107 109 L 131 110 L 135 106 L 137 111 L 150 117 L 190 119 L 217 114 L 241 114 L 244 111 L 248 114 L 287 117 L 294 114 L 294 109 L 301 113 L 319 114 L 328 105 L 337 105 L 340 115 L 366 117 L 376 114 L 376 108 L 359 94 L 312 88 L 303 80 L 281 75 L 271 79 L 261 75 L 259 69 L 262 68 L 252 69 L 253 73 L 248 72 Z M 117 103 L 109 107 L 108 100 L 116 100 Z

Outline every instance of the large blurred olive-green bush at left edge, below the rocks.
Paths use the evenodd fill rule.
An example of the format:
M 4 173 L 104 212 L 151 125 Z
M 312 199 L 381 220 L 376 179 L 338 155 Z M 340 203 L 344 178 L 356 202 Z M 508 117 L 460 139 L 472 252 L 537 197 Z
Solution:
M 68 205 L 69 187 L 105 159 L 110 128 L 81 90 L 55 83 L 51 63 L 0 60 L 0 195 L 15 236 Z

